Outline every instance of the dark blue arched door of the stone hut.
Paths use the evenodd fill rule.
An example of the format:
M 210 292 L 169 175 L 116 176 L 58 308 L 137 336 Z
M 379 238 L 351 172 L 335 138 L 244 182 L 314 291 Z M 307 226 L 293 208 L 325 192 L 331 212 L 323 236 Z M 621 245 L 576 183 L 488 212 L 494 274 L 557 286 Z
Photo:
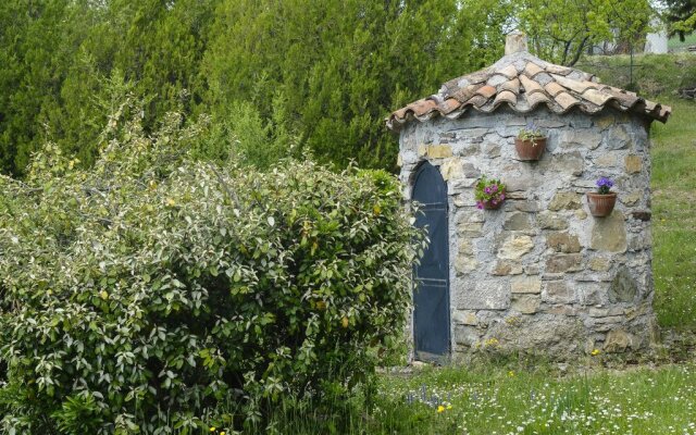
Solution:
M 449 231 L 447 185 L 437 167 L 423 163 L 411 198 L 421 204 L 418 227 L 427 226 L 431 240 L 413 277 L 413 341 L 415 359 L 446 360 L 450 352 Z

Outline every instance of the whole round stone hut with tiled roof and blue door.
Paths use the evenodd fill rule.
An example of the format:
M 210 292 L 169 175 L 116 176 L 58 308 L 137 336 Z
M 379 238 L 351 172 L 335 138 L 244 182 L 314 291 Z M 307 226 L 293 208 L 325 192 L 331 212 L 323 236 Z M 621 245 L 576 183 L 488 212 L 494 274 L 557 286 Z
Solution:
M 414 274 L 415 358 L 569 358 L 652 343 L 648 133 L 670 111 L 545 62 L 513 34 L 493 66 L 391 113 L 405 195 L 422 204 L 431 238 Z M 548 137 L 536 162 L 513 145 L 529 122 Z M 482 175 L 507 184 L 499 210 L 476 208 Z M 585 192 L 601 176 L 618 200 L 594 217 Z

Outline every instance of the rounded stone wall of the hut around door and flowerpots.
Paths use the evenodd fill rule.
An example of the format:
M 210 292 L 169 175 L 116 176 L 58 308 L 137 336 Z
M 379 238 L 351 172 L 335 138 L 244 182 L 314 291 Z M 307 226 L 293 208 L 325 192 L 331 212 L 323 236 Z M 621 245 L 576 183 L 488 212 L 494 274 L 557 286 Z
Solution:
M 548 132 L 538 162 L 519 161 L 514 151 L 530 121 Z M 611 109 L 557 115 L 546 108 L 405 126 L 407 198 L 424 160 L 448 185 L 456 353 L 495 346 L 563 358 L 654 340 L 648 126 Z M 476 209 L 482 174 L 507 183 L 500 210 Z M 584 195 L 600 176 L 619 195 L 609 217 L 593 217 Z

